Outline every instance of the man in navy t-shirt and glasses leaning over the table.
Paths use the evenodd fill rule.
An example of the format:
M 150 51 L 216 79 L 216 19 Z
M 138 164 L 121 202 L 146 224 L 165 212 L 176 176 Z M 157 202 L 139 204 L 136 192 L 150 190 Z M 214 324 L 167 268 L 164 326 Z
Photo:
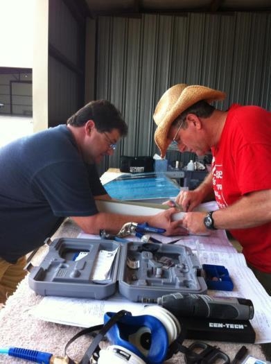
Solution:
M 182 233 L 180 221 L 171 221 L 175 209 L 155 216 L 98 212 L 95 199 L 111 198 L 96 164 L 114 153 L 127 130 L 114 105 L 91 101 L 67 125 L 0 148 L 0 302 L 24 277 L 25 254 L 40 247 L 68 216 L 88 234 L 116 233 L 129 221 Z

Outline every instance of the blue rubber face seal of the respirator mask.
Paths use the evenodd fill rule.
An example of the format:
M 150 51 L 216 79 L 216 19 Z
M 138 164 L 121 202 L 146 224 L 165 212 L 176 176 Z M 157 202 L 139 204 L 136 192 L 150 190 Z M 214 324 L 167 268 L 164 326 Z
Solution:
M 107 312 L 104 315 L 106 323 L 115 313 Z M 151 334 L 150 349 L 148 355 L 144 356 L 139 348 L 130 343 L 129 336 L 141 332 L 142 327 L 146 327 Z M 123 316 L 114 326 L 107 331 L 107 338 L 113 345 L 119 345 L 134 352 L 147 364 L 163 363 L 168 352 L 168 333 L 164 325 L 157 318 L 151 315 Z

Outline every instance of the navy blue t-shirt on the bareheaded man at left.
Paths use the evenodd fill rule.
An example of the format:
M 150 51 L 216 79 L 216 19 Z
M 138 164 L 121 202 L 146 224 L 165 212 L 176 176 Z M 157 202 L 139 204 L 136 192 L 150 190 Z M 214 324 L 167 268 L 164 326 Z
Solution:
M 40 247 L 67 216 L 97 214 L 106 193 L 66 125 L 0 148 L 0 257 L 14 263 Z

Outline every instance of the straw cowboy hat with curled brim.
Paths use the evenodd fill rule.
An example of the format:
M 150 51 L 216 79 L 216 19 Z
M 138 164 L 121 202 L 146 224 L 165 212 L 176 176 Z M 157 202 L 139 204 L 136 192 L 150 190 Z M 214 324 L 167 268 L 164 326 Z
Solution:
M 161 96 L 153 114 L 153 119 L 157 124 L 155 143 L 161 151 L 161 157 L 164 158 L 166 150 L 171 144 L 171 140 L 168 139 L 168 131 L 177 116 L 198 101 L 205 100 L 207 103 L 211 103 L 215 100 L 223 100 L 225 97 L 225 92 L 200 85 L 189 86 L 180 83 L 168 89 Z

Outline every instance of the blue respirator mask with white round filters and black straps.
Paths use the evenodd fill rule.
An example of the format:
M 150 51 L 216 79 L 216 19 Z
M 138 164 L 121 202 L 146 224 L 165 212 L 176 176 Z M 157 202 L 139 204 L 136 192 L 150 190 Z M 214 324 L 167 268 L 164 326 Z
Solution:
M 104 324 L 83 329 L 65 346 L 67 348 L 82 335 L 91 334 L 94 339 L 79 364 L 161 364 L 182 350 L 186 330 L 173 313 L 161 306 L 146 306 L 143 315 L 132 316 L 128 311 L 107 312 Z M 107 337 L 110 346 L 100 349 L 100 340 Z M 186 349 L 186 348 L 185 348 Z M 183 350 L 182 350 L 183 351 Z M 92 359 L 94 361 L 92 361 Z M 69 358 L 69 364 L 76 364 Z

